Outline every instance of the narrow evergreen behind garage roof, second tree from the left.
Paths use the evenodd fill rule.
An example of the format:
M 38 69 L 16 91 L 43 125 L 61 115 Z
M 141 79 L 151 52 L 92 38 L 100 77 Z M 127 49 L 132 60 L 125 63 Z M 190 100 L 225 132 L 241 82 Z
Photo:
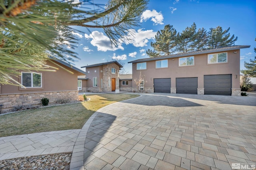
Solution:
M 191 27 L 186 27 L 181 33 L 177 34 L 177 50 L 181 53 L 194 51 L 194 41 L 197 38 L 196 24 L 193 23 Z

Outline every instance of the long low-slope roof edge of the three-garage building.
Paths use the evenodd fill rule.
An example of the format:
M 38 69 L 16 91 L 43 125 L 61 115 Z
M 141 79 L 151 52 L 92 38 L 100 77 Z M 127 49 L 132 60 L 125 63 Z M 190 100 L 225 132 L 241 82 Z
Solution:
M 244 49 L 244 48 L 250 48 L 250 45 L 234 45 L 234 46 L 222 47 L 222 48 L 218 48 L 218 49 L 193 51 L 193 52 L 188 52 L 188 53 L 179 53 L 179 54 L 173 54 L 173 55 L 167 55 L 167 56 L 161 56 L 161 57 L 150 57 L 150 58 L 130 61 L 128 63 L 140 63 L 140 62 L 143 62 L 143 61 L 154 61 L 154 60 L 161 60 L 161 59 L 170 59 L 170 58 L 175 58 L 175 57 L 185 57 L 185 56 L 198 55 L 198 54 L 216 53 L 216 52 L 221 52 L 221 51 L 230 51 L 230 50 L 237 50 L 237 49 Z

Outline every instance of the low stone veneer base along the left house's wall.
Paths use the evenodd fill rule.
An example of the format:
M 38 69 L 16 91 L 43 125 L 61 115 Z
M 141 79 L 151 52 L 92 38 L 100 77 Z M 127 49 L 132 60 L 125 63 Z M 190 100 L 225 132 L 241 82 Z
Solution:
M 74 102 L 78 100 L 78 90 L 61 91 L 61 92 L 37 92 L 37 93 L 23 93 L 23 94 L 1 94 L 0 104 L 2 110 L 10 110 L 13 107 L 25 105 L 42 105 L 41 99 L 48 98 L 49 104 L 60 100 L 68 100 Z

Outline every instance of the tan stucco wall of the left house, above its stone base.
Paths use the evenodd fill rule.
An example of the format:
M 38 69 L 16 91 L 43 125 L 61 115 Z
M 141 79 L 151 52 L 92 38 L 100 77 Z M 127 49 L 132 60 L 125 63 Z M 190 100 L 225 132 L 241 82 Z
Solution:
M 77 76 L 76 70 L 73 70 L 63 64 L 58 63 L 61 67 L 70 70 L 68 72 L 64 68 L 53 64 L 52 62 L 46 63 L 49 66 L 58 68 L 55 72 L 52 71 L 39 71 L 42 73 L 42 88 L 21 88 L 13 85 L 1 85 L 1 94 L 20 94 L 20 93 L 36 93 L 36 92 L 54 92 L 54 91 L 66 91 L 66 90 L 77 90 Z M 51 69 L 51 68 L 50 68 Z M 21 83 L 21 76 L 13 77 L 16 81 Z

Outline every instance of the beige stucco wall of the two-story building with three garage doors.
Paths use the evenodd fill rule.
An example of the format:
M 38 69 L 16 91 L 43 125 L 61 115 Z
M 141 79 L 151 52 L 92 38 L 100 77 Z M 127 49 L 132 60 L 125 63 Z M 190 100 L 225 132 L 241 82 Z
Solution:
M 234 53 L 234 51 L 237 53 Z M 175 88 L 176 78 L 198 77 L 198 88 L 204 88 L 204 75 L 232 74 L 232 88 L 240 88 L 240 50 L 219 53 L 224 52 L 228 53 L 227 63 L 208 64 L 208 54 L 211 53 L 194 55 L 193 66 L 179 66 L 179 57 L 168 59 L 168 68 L 156 68 L 156 61 L 146 61 L 146 70 L 137 70 L 137 63 L 133 63 L 133 80 L 140 77 L 141 71 L 145 80 L 145 88 L 154 87 L 154 78 L 171 78 L 171 87 Z M 235 78 L 235 75 L 237 75 L 237 78 Z M 133 87 L 135 87 L 134 81 Z

